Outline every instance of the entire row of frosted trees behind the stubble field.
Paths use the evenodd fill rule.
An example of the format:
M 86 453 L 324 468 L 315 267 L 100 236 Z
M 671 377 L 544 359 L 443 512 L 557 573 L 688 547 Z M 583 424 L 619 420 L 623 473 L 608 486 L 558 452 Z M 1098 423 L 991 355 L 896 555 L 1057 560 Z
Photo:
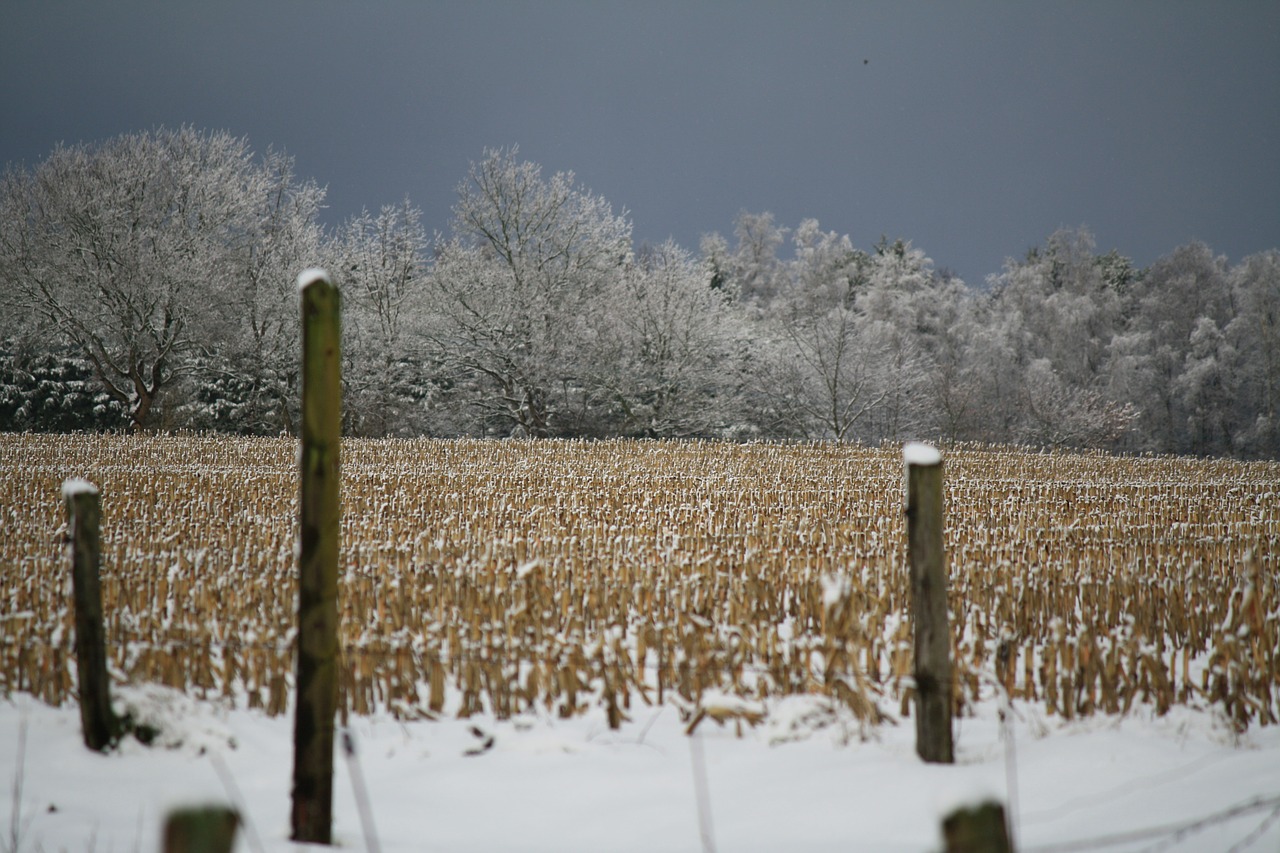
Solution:
M 490 150 L 445 234 L 334 228 L 278 152 L 184 127 L 0 179 L 0 429 L 293 433 L 294 277 L 343 293 L 352 435 L 906 438 L 1280 457 L 1280 251 L 1146 269 L 1064 229 L 984 287 L 741 213 L 636 245 L 572 173 Z

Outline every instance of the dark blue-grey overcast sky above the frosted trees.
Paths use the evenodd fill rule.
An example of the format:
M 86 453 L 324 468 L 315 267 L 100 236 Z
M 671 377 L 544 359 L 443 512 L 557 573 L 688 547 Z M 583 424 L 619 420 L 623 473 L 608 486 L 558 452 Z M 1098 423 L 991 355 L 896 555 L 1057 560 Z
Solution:
M 192 124 L 283 149 L 328 219 L 447 231 L 485 147 L 631 213 L 911 240 L 980 283 L 1061 225 L 1146 265 L 1280 247 L 1280 3 L 5 0 L 0 163 Z

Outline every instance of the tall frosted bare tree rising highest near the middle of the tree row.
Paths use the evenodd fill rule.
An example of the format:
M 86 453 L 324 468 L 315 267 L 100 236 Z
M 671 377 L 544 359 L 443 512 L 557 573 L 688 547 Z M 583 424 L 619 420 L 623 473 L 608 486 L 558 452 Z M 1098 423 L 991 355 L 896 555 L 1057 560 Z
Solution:
M 483 432 L 573 434 L 595 401 L 590 318 L 631 264 L 625 214 L 544 178 L 516 149 L 490 150 L 458 188 L 452 237 L 435 248 L 428 336 Z

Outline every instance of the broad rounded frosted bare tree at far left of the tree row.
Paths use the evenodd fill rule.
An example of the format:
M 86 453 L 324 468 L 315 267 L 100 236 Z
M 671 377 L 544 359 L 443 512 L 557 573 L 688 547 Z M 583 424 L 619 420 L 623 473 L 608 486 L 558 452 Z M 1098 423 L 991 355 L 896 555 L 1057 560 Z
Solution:
M 264 218 L 297 190 L 289 169 L 188 127 L 59 146 L 31 172 L 9 169 L 10 300 L 79 351 L 134 428 L 163 425 L 161 410 L 184 402 L 163 406 L 168 392 L 205 368 L 227 373 L 246 275 L 271 251 Z

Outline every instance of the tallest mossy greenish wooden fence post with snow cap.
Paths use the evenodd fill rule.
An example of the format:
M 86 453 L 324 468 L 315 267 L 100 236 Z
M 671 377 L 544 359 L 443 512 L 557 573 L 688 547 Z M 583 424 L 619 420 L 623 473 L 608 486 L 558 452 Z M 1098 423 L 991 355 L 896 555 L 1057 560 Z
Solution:
M 339 295 L 324 270 L 298 275 L 302 297 L 302 451 L 298 501 L 298 670 L 293 721 L 293 840 L 329 844 L 338 708 L 338 502 L 342 439 Z

